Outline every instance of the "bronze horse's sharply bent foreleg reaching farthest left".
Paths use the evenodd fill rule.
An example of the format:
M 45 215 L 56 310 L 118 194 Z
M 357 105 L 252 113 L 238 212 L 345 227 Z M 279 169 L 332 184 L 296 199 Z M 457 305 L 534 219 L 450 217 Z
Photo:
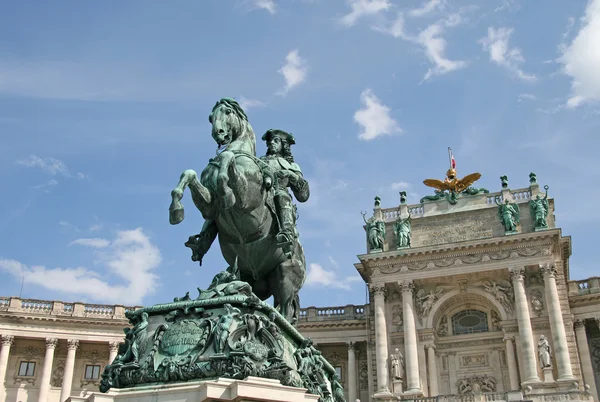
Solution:
M 194 205 L 202 213 L 204 219 L 211 219 L 215 214 L 210 191 L 200 183 L 198 174 L 194 170 L 188 169 L 181 174 L 179 183 L 171 191 L 171 205 L 169 206 L 169 223 L 171 225 L 177 225 L 185 218 L 181 198 L 183 198 L 183 191 L 186 187 L 189 187 Z

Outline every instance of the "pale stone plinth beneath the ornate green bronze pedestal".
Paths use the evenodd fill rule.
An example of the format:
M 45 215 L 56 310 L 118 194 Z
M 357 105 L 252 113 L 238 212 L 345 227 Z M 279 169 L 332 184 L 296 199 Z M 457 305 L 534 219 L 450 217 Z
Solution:
M 248 377 L 245 380 L 219 378 L 183 384 L 146 385 L 135 388 L 94 392 L 86 397 L 72 396 L 67 402 L 171 402 L 171 401 L 261 401 L 317 402 L 318 395 L 304 388 L 287 387 L 277 380 Z

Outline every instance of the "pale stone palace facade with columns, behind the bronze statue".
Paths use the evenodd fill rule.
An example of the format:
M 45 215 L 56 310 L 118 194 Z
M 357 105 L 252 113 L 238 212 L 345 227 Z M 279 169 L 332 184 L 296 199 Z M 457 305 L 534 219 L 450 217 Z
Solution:
M 377 199 L 355 265 L 370 303 L 302 309 L 298 329 L 348 401 L 598 400 L 600 278 L 570 279 L 554 199 L 544 226 L 529 206 L 545 196 L 535 176 L 473 193 L 394 208 Z M 0 402 L 97 392 L 135 308 L 0 298 Z

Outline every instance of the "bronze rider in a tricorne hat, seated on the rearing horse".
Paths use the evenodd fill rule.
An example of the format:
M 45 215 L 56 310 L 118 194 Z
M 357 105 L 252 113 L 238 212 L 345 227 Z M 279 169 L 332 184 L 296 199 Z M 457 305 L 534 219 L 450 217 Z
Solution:
M 273 189 L 275 211 L 279 221 L 277 242 L 286 255 L 291 258 L 296 238 L 295 207 L 288 187 L 296 193 L 305 192 L 308 183 L 302 177 L 300 166 L 294 162 L 291 146 L 296 143 L 294 136 L 283 130 L 271 129 L 262 140 L 267 142 L 267 154 L 261 158 L 270 169 L 265 175 L 265 185 Z

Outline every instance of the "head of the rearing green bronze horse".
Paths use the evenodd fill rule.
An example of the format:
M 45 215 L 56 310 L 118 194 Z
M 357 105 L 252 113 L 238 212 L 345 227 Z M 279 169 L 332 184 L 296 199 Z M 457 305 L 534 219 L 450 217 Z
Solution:
M 212 137 L 218 150 L 242 151 L 256 155 L 256 136 L 248 123 L 248 116 L 232 98 L 218 101 L 208 116 Z

